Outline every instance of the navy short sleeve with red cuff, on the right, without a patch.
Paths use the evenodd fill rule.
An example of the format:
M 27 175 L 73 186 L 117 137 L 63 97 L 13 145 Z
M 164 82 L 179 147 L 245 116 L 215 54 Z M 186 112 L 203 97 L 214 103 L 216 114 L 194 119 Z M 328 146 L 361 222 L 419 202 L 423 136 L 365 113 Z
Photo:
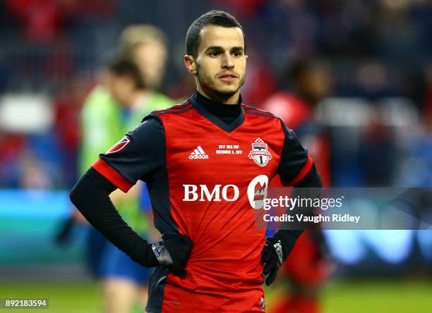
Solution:
M 277 174 L 280 175 L 283 185 L 293 186 L 311 171 L 313 161 L 294 131 L 287 128 L 283 121 L 281 123 L 285 137 Z

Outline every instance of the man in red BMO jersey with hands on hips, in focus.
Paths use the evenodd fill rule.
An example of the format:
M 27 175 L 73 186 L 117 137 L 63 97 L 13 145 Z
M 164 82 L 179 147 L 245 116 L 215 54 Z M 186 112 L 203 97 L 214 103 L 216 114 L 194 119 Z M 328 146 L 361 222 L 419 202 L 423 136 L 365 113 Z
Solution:
M 233 16 L 200 16 L 188 29 L 184 56 L 197 92 L 146 116 L 71 191 L 102 235 L 139 264 L 157 266 L 147 312 L 263 312 L 263 280 L 275 280 L 301 231 L 265 238 L 256 227 L 256 191 L 276 174 L 285 185 L 321 185 L 292 130 L 242 104 L 246 59 Z M 110 192 L 127 192 L 138 180 L 148 184 L 158 243 L 140 238 L 109 201 Z

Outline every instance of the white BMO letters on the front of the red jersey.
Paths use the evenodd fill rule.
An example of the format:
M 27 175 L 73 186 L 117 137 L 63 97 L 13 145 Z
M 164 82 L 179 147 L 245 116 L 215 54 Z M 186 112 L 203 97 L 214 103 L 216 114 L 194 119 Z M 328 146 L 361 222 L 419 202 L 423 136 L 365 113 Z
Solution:
M 183 201 L 236 201 L 240 191 L 236 185 L 215 185 L 209 190 L 207 185 L 183 185 Z

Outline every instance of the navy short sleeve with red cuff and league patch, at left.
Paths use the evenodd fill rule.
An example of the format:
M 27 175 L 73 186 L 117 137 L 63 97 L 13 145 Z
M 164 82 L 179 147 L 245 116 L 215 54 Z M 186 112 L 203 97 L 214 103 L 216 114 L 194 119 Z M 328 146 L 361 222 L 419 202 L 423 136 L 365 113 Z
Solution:
M 138 180 L 151 179 L 164 166 L 165 135 L 162 122 L 148 116 L 92 164 L 117 188 L 127 192 Z

